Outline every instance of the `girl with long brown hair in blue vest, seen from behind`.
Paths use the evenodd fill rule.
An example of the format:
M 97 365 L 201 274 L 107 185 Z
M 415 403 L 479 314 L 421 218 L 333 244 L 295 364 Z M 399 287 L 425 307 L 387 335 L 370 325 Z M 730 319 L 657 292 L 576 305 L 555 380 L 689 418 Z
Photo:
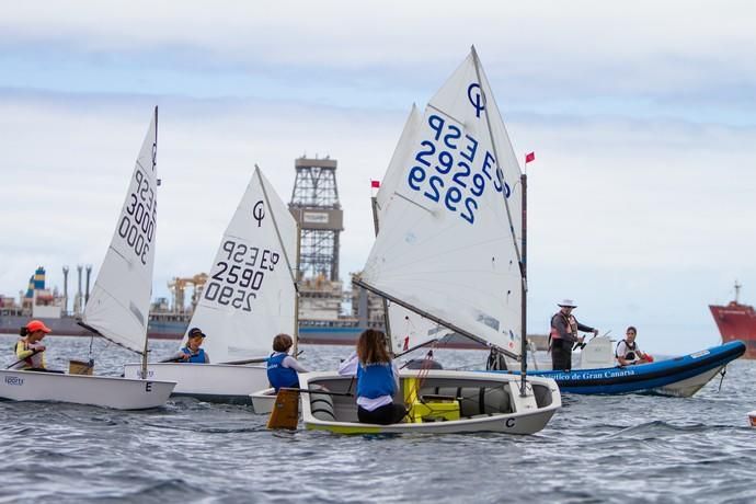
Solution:
M 394 404 L 399 370 L 386 348 L 386 334 L 368 329 L 359 335 L 357 350 L 339 367 L 341 375 L 357 376 L 357 419 L 388 425 L 406 415 L 404 404 Z

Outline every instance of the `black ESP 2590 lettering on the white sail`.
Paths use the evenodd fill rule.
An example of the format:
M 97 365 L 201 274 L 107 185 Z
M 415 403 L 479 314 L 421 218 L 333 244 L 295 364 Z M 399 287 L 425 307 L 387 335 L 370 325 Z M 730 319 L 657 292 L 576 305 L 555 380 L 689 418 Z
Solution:
M 207 301 L 252 311 L 252 300 L 257 297 L 265 272 L 275 270 L 280 254 L 233 240 L 226 240 L 220 249 L 203 297 Z

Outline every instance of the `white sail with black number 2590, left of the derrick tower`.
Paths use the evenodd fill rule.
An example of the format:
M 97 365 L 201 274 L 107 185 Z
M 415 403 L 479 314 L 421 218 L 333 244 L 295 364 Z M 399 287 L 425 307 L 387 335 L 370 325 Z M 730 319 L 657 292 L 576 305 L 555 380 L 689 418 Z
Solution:
M 255 167 L 188 325 L 207 334 L 214 363 L 264 357 L 276 334 L 296 337 L 296 248 L 297 225 Z

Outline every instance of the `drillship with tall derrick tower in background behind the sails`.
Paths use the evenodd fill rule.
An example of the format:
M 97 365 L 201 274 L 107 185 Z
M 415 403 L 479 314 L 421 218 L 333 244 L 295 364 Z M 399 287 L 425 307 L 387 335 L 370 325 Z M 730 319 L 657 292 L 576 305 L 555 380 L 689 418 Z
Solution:
M 345 290 L 340 279 L 339 247 L 344 219 L 336 164 L 335 159 L 328 157 L 295 160 L 289 211 L 300 227 L 298 282 L 302 343 L 351 344 L 364 329 L 383 325 L 382 302 L 363 289 Z M 78 287 L 72 299 L 68 273 L 69 267 L 64 266 L 62 293 L 47 286 L 46 271 L 39 266 L 26 291 L 20 293 L 19 301 L 0 295 L 0 332 L 16 333 L 30 318 L 35 318 L 43 319 L 56 334 L 88 334 L 76 320 L 89 299 L 92 266 L 77 266 Z M 206 282 L 205 273 L 172 278 L 168 284 L 171 299 L 158 298 L 152 303 L 149 336 L 181 339 Z M 345 306 L 351 306 L 348 313 L 344 312 Z

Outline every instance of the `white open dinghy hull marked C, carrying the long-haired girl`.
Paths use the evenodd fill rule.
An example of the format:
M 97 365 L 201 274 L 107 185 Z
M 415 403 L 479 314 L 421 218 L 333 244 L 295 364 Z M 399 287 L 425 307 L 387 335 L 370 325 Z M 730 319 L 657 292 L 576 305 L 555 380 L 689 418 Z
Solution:
M 459 420 L 439 421 L 438 417 L 428 417 L 427 421 L 423 419 L 413 423 L 364 424 L 357 420 L 354 397 L 302 393 L 302 422 L 309 429 L 340 434 L 539 432 L 562 405 L 557 382 L 548 378 L 528 377 L 528 393 L 520 397 L 519 377 L 508 376 L 515 379 L 502 379 L 506 376 L 478 371 L 429 370 L 423 371 L 419 377 L 416 370 L 400 371 L 402 393 L 405 394 L 404 389 L 412 387 L 411 380 L 420 380 L 420 396 L 428 398 L 427 404 L 431 404 L 431 410 L 434 408 L 432 394 L 456 397 L 459 403 Z M 339 376 L 336 373 L 302 374 L 299 376 L 299 385 L 302 389 L 310 390 L 320 386 L 332 392 L 354 392 L 353 379 Z M 398 400 L 394 398 L 394 401 Z

